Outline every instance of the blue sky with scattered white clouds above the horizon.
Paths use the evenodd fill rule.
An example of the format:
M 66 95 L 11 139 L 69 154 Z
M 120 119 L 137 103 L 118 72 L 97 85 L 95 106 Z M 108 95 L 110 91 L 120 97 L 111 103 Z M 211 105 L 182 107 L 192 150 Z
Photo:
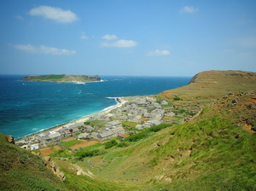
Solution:
M 256 72 L 256 1 L 0 3 L 1 74 Z

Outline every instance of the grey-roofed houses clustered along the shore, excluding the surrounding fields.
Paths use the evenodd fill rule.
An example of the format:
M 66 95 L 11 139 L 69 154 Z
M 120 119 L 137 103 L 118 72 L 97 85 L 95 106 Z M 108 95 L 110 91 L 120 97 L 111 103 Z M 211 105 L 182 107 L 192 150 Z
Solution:
M 104 127 L 100 129 L 84 123 L 76 123 L 71 125 L 64 125 L 58 130 L 42 132 L 32 138 L 27 138 L 23 141 L 16 142 L 22 148 L 44 148 L 48 144 L 59 143 L 63 138 L 75 136 L 78 139 L 97 139 L 105 141 L 112 137 L 125 137 L 125 129 L 122 121 L 129 121 L 137 123 L 135 129 L 143 130 L 144 128 L 152 127 L 161 123 L 172 122 L 172 117 L 176 115 L 176 111 L 183 106 L 165 107 L 169 103 L 167 101 L 156 101 L 154 97 L 139 97 L 131 101 L 126 101 L 122 107 L 113 109 L 109 113 L 93 115 L 90 121 L 101 120 L 106 121 Z M 192 113 L 198 113 L 200 110 L 197 105 L 194 107 Z M 189 115 L 184 120 L 188 121 L 193 116 Z M 121 137 L 122 136 L 122 137 Z

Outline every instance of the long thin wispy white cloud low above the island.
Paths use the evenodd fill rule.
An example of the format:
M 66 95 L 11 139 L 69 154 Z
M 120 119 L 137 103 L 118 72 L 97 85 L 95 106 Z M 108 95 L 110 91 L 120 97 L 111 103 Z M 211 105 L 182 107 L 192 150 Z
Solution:
M 57 49 L 54 47 L 48 47 L 48 46 L 34 46 L 31 44 L 17 44 L 14 45 L 15 49 L 20 49 L 26 52 L 31 53 L 43 53 L 46 55 L 73 55 L 76 54 L 75 50 L 69 50 L 69 49 Z

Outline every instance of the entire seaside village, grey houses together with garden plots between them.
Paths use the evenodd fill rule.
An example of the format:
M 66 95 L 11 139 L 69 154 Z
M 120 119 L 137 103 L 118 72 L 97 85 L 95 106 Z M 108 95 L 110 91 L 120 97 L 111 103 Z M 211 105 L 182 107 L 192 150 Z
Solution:
M 117 98 L 119 99 L 119 98 Z M 139 133 L 146 128 L 169 123 L 184 123 L 192 119 L 201 107 L 196 104 L 180 104 L 160 100 L 155 97 L 137 97 L 124 101 L 108 113 L 95 114 L 84 122 L 62 125 L 61 127 L 40 132 L 33 136 L 15 142 L 20 148 L 36 150 L 58 146 L 61 142 L 83 140 L 84 142 L 106 142 L 113 137 L 120 140 L 131 134 Z M 89 145 L 90 145 L 89 144 Z M 82 147 L 86 147 L 85 144 Z M 79 147 L 77 147 L 79 148 Z

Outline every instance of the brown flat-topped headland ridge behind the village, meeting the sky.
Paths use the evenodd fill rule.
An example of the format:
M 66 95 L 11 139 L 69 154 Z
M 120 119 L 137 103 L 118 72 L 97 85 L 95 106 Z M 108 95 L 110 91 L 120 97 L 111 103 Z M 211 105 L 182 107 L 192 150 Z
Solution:
M 215 100 L 233 91 L 256 90 L 256 73 L 243 71 L 206 71 L 196 74 L 189 85 L 174 90 L 166 90 L 159 96 L 184 101 Z

